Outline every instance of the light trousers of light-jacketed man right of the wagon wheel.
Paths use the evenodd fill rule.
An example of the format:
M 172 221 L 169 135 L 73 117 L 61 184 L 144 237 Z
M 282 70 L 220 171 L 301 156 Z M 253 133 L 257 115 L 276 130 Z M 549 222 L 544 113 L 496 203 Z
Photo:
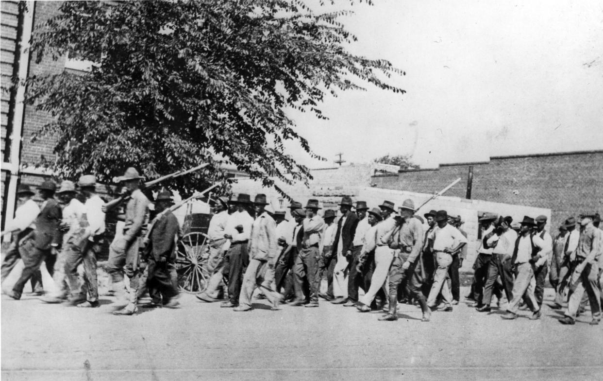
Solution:
M 268 261 L 252 258 L 243 276 L 239 306 L 251 307 L 251 296 L 253 296 L 253 292 L 257 287 L 261 287 L 268 301 L 275 304 L 280 295 L 270 288 L 273 281 L 274 267 L 271 268 Z

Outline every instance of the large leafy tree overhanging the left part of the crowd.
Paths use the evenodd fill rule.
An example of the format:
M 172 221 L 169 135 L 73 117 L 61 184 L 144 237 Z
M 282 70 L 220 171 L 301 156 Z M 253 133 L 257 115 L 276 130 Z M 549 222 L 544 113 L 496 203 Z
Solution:
M 387 83 L 405 74 L 390 62 L 346 51 L 346 11 L 317 14 L 297 0 L 66 1 L 60 11 L 34 35 L 37 61 L 95 65 L 29 78 L 28 102 L 55 117 L 39 136 L 57 137 L 54 169 L 67 177 L 110 181 L 134 165 L 154 178 L 210 162 L 171 184 L 186 194 L 223 179 L 223 158 L 267 186 L 307 184 L 283 142 L 319 157 L 289 108 L 326 118 L 319 105 L 336 91 L 404 92 Z

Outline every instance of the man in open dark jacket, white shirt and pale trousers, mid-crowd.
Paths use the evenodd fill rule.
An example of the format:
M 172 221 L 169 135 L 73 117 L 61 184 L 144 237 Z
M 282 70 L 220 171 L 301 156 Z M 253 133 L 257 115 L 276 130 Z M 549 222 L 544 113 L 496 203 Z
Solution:
M 333 241 L 333 257 L 337 260 L 333 269 L 333 295 L 335 296 L 331 301 L 333 304 L 343 304 L 347 301 L 346 268 L 352 261 L 354 234 L 358 225 L 358 216 L 352 213 L 352 207 L 352 198 L 344 196 L 339 203 L 341 218 L 337 222 L 335 241 Z

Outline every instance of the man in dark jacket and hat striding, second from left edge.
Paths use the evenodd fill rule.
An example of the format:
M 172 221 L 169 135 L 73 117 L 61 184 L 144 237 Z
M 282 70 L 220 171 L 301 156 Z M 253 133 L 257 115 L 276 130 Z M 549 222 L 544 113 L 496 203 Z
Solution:
M 36 219 L 35 238 L 26 244 L 30 247 L 24 248 L 23 251 L 23 254 L 27 252 L 27 255 L 23 256 L 25 268 L 14 284 L 13 290 L 8 292 L 8 296 L 17 300 L 21 299 L 25 283 L 40 268 L 42 261 L 46 261 L 46 269 L 52 275 L 57 252 L 63 239 L 60 231 L 63 213 L 57 200 L 53 198 L 57 185 L 52 181 L 45 181 L 38 190 L 43 203 Z

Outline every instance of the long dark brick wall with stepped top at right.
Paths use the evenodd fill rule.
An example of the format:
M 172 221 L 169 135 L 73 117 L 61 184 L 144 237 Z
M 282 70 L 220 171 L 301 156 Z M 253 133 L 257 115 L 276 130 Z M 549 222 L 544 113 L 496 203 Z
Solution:
M 549 208 L 555 231 L 569 216 L 585 210 L 603 211 L 603 151 L 498 156 L 490 162 L 373 176 L 371 183 L 381 188 L 435 193 L 461 178 L 446 196 L 465 197 L 470 165 L 472 199 Z

